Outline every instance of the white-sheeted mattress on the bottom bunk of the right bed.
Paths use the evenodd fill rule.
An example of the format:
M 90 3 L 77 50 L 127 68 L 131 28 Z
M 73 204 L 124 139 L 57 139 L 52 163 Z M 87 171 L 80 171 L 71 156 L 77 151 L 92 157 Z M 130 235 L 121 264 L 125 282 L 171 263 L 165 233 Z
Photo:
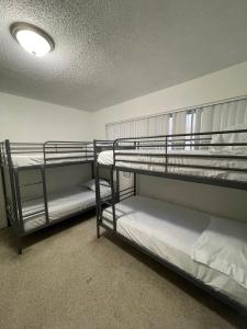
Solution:
M 116 204 L 117 232 L 168 260 L 206 285 L 247 306 L 247 290 L 216 270 L 191 259 L 193 245 L 207 226 L 207 214 L 175 204 L 133 196 Z M 112 228 L 112 208 L 103 212 Z

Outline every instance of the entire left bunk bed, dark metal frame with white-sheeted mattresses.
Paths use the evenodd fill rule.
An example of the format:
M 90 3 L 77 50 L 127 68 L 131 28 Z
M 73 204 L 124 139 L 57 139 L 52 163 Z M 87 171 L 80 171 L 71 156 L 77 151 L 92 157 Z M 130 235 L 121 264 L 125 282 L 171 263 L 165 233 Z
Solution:
M 24 236 L 96 207 L 94 192 L 78 190 L 50 196 L 47 191 L 48 168 L 75 164 L 91 166 L 93 177 L 92 143 L 56 140 L 38 144 L 7 139 L 0 144 L 7 220 L 15 234 L 19 253 L 22 253 Z M 36 170 L 38 178 L 21 183 L 20 174 L 30 170 Z M 24 193 L 29 188 L 37 188 L 38 193 Z

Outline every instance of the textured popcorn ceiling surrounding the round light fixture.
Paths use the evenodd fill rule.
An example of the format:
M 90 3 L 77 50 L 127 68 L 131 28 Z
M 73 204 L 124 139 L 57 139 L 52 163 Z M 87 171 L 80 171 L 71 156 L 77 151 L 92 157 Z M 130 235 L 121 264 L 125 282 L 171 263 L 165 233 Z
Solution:
M 55 50 L 25 53 L 16 21 Z M 245 60 L 247 0 L 0 0 L 0 91 L 18 95 L 93 111 Z

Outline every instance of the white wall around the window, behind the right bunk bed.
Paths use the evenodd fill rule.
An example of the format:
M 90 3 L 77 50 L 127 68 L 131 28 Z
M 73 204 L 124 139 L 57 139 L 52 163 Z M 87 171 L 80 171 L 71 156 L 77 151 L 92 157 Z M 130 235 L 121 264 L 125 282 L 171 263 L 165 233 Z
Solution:
M 247 94 L 247 61 L 165 90 L 100 110 L 91 120 L 97 138 L 105 138 L 105 124 L 168 112 Z M 142 194 L 192 206 L 211 214 L 246 219 L 247 192 L 211 185 L 141 177 Z

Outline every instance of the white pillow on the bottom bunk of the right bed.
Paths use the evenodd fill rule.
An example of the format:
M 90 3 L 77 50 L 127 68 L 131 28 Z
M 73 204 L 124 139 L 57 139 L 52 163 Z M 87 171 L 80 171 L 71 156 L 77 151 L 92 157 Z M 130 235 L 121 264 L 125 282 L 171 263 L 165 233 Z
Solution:
M 247 290 L 247 223 L 211 217 L 191 258 L 220 271 Z

